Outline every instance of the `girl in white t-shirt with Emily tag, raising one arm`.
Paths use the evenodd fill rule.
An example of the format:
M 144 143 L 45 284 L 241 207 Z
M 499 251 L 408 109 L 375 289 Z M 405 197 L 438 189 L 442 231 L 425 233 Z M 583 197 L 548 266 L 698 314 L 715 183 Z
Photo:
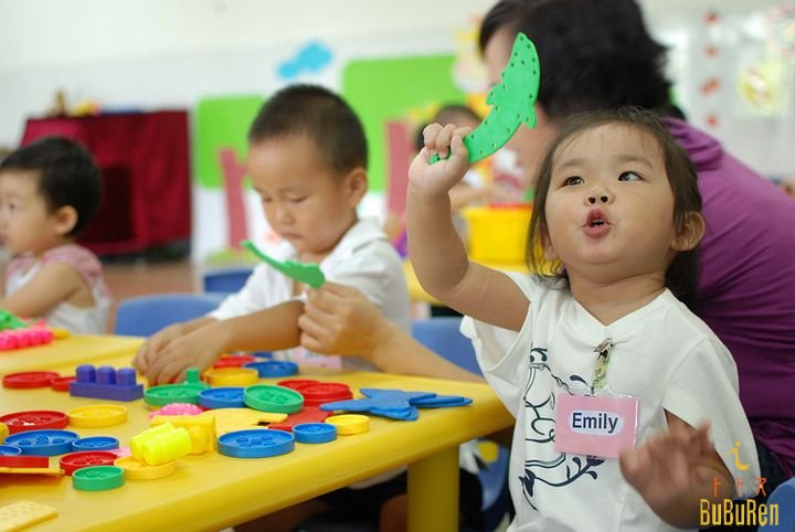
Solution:
M 470 317 L 462 328 L 517 418 L 510 530 L 698 528 L 703 504 L 753 496 L 731 354 L 677 299 L 692 290 L 704 227 L 692 164 L 665 127 L 638 110 L 562 125 L 528 237 L 547 255 L 529 253 L 531 269 L 560 259 L 558 278 L 467 260 L 447 198 L 466 132 L 426 129 L 409 242 L 423 287 Z

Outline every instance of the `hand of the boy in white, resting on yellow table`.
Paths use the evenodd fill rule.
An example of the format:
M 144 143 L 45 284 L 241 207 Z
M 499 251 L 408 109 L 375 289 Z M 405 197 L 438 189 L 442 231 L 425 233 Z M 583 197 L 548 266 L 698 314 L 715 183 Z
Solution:
M 222 351 L 219 334 L 213 329 L 197 329 L 161 349 L 146 370 L 149 385 L 182 382 L 188 368 L 198 368 L 200 372 L 210 368 Z

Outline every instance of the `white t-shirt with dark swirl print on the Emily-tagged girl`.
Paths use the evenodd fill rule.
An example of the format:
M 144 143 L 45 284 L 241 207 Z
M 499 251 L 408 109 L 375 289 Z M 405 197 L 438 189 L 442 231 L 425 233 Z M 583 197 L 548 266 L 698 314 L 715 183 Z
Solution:
M 606 383 L 639 401 L 637 444 L 666 430 L 665 411 L 710 438 L 727 468 L 754 496 L 760 475 L 751 428 L 738 397 L 734 361 L 712 331 L 666 290 L 610 326 L 560 281 L 507 274 L 531 301 L 518 333 L 465 318 L 489 384 L 517 418 L 509 482 L 517 510 L 510 531 L 668 531 L 623 478 L 618 459 L 554 450 L 555 395 L 590 392 L 597 353 L 613 340 Z M 741 471 L 731 454 L 740 443 Z

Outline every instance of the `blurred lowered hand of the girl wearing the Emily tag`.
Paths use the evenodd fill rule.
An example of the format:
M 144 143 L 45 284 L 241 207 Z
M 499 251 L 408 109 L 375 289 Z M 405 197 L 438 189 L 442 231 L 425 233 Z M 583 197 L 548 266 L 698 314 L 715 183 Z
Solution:
M 720 472 L 720 466 L 713 464 L 721 464 L 707 436 L 709 424 L 696 429 L 669 416 L 668 425 L 667 433 L 619 457 L 624 478 L 658 515 L 671 511 L 685 493 L 700 491 L 703 497 L 712 497 L 709 487 Z

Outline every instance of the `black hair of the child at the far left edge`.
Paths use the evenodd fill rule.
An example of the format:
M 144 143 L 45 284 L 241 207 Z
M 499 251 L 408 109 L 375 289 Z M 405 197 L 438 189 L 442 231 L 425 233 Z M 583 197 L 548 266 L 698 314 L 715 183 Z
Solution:
M 39 193 L 47 210 L 72 206 L 77 221 L 67 236 L 76 236 L 99 209 L 102 174 L 94 158 L 78 142 L 64 137 L 43 137 L 12 152 L 0 170 L 38 172 Z

